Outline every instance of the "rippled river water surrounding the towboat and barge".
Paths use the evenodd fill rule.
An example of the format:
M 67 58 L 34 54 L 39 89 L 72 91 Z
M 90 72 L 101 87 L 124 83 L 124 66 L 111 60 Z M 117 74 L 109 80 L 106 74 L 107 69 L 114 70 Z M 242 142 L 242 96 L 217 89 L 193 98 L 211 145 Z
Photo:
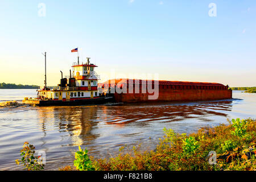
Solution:
M 0 102 L 36 95 L 34 89 L 0 89 Z M 15 159 L 25 141 L 46 152 L 45 169 L 73 165 L 78 146 L 95 158 L 118 154 L 119 147 L 142 143 L 152 150 L 163 128 L 193 133 L 227 119 L 256 118 L 256 94 L 233 91 L 233 99 L 93 106 L 0 106 L 0 170 L 18 170 Z

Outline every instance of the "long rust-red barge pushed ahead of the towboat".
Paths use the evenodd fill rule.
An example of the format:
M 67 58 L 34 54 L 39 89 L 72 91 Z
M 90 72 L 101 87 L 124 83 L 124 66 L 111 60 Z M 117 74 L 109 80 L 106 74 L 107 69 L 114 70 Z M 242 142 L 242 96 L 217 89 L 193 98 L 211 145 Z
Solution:
M 152 86 L 154 86 L 154 80 L 150 81 L 152 82 Z M 232 90 L 223 84 L 159 80 L 156 81 L 156 83 L 158 82 L 156 86 L 158 86 L 159 89 L 158 97 L 154 100 L 150 100 L 148 96 L 153 94 L 142 92 L 143 86 L 147 88 L 147 82 L 147 80 L 115 79 L 108 80 L 99 86 L 104 93 L 109 92 L 111 88 L 126 88 L 126 93 L 114 93 L 115 102 L 202 101 L 232 98 Z M 129 86 L 129 84 L 132 85 Z M 135 92 L 135 88 L 139 88 L 139 92 L 138 90 Z

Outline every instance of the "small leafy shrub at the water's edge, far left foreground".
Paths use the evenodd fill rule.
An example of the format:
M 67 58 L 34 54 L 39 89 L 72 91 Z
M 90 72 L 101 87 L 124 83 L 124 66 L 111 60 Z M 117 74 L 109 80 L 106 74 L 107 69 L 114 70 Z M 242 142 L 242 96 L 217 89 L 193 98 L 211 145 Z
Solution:
M 44 169 L 44 164 L 39 163 L 39 156 L 34 156 L 34 154 L 35 147 L 32 144 L 25 142 L 22 150 L 20 150 L 20 156 L 22 156 L 22 158 L 20 160 L 16 159 L 15 162 L 17 165 L 22 163 L 25 167 L 24 169 L 27 169 L 28 171 L 39 171 Z

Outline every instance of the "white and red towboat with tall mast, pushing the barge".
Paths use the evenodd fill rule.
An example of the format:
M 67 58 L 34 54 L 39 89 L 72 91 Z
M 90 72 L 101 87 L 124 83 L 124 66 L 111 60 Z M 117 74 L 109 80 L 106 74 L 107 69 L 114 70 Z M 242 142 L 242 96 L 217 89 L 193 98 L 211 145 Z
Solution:
M 78 57 L 77 63 L 72 65 L 72 71 L 69 70 L 69 76 L 63 78 L 63 72 L 60 71 L 60 84 L 55 88 L 47 87 L 45 78 L 45 85 L 37 90 L 37 97 L 25 97 L 22 102 L 34 106 L 91 105 L 112 102 L 113 97 L 106 97 L 98 92 L 100 76 L 94 71 L 97 66 L 90 63 L 90 57 L 86 59 L 87 63 L 79 64 Z

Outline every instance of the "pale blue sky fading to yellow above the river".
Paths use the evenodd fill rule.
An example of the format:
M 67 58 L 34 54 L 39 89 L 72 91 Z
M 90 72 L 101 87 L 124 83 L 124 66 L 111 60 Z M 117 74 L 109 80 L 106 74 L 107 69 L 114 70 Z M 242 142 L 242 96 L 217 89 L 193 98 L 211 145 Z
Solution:
M 79 48 L 110 78 L 256 86 L 256 1 L 0 1 L 0 82 L 57 85 Z

